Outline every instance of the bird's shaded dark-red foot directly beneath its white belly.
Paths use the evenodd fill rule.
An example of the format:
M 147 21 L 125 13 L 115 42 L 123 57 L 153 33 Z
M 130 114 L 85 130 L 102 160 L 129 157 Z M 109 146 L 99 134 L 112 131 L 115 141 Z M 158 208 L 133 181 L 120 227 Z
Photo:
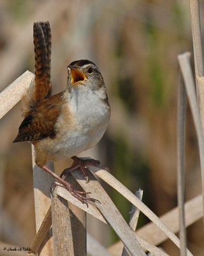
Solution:
M 72 172 L 73 170 L 80 168 L 82 170 L 82 172 L 84 173 L 85 180 L 87 180 L 87 182 L 89 182 L 89 177 L 87 175 L 87 171 L 85 170 L 88 165 L 96 166 L 96 167 L 99 167 L 99 168 L 104 169 L 109 172 L 109 169 L 107 167 L 101 165 L 98 160 L 95 160 L 92 158 L 82 158 L 82 157 L 80 158 L 77 156 L 73 156 L 73 157 L 71 157 L 71 159 L 73 159 L 73 164 L 71 165 L 71 167 L 65 169 L 61 173 L 60 177 L 62 177 L 63 175 L 66 176 L 69 172 Z

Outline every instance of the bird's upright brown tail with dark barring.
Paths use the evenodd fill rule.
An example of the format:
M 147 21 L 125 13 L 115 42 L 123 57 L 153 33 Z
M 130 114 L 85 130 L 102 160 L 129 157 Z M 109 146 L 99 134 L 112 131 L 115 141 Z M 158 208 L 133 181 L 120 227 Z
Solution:
M 35 92 L 33 105 L 51 95 L 51 30 L 50 23 L 35 22 L 33 25 L 35 58 Z

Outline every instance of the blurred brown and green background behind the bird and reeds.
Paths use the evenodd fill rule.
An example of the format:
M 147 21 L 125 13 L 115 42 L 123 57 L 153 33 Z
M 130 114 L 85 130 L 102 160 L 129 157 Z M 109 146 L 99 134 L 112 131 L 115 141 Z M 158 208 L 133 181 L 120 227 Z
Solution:
M 143 189 L 143 202 L 158 216 L 176 207 L 177 54 L 193 52 L 189 1 L 0 0 L 1 91 L 25 70 L 34 72 L 33 22 L 45 20 L 52 29 L 53 92 L 66 88 L 66 66 L 83 58 L 98 65 L 108 89 L 110 125 L 83 156 L 99 159 L 133 193 Z M 35 235 L 31 145 L 12 143 L 21 121 L 20 104 L 0 120 L 0 240 L 30 246 Z M 56 172 L 69 164 L 69 159 L 55 163 Z M 201 193 L 200 179 L 188 107 L 186 200 Z M 131 205 L 105 188 L 128 221 Z M 141 214 L 138 226 L 148 221 Z M 118 239 L 97 221 L 88 220 L 88 230 L 105 246 Z M 203 237 L 202 220 L 187 228 L 194 255 L 203 255 Z M 161 246 L 179 255 L 172 243 Z

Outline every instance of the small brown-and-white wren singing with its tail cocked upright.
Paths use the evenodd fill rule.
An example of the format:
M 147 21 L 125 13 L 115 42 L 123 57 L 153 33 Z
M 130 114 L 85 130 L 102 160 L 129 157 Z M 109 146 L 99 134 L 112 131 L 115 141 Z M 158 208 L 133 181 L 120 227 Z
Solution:
M 32 143 L 35 163 L 54 176 L 59 181 L 57 185 L 66 188 L 82 204 L 98 202 L 87 197 L 87 193 L 75 190 L 62 176 L 79 167 L 87 179 L 86 166 L 100 164 L 76 155 L 94 147 L 108 127 L 111 110 L 103 76 L 92 61 L 73 61 L 67 67 L 66 90 L 52 95 L 50 23 L 34 22 L 33 37 L 34 81 L 22 99 L 24 120 L 13 143 Z M 60 177 L 46 166 L 47 161 L 68 157 L 73 159 L 73 164 Z

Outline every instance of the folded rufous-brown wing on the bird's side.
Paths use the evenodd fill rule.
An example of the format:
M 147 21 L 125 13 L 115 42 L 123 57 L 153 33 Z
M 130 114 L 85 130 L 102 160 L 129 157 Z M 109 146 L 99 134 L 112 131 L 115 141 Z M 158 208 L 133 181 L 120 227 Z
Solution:
M 54 138 L 55 123 L 62 108 L 62 95 L 63 92 L 58 93 L 34 106 L 20 124 L 13 142 Z

